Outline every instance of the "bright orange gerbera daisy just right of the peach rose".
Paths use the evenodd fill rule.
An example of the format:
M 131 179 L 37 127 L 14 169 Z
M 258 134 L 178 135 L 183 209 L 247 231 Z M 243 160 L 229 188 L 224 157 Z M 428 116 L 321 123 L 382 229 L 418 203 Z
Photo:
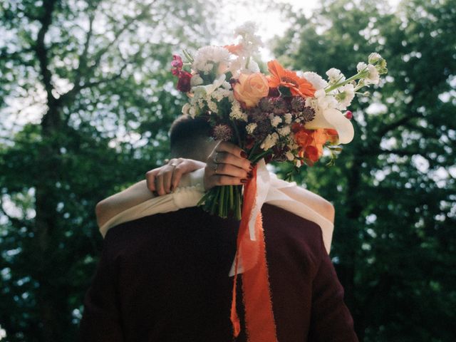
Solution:
M 312 83 L 307 81 L 306 78 L 297 76 L 294 71 L 285 69 L 278 61 L 269 61 L 268 70 L 271 73 L 269 87 L 284 86 L 290 88 L 291 94 L 294 96 L 314 97 L 315 88 Z

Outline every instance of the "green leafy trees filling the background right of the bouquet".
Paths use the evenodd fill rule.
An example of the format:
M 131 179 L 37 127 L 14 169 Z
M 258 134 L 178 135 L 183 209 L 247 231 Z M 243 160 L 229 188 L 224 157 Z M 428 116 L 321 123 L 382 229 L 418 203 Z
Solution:
M 356 138 L 336 167 L 297 180 L 336 206 L 332 257 L 361 341 L 452 341 L 456 247 L 453 1 L 323 1 L 276 56 L 346 75 L 375 51 L 388 76 L 353 105 Z M 369 103 L 373 102 L 372 105 Z

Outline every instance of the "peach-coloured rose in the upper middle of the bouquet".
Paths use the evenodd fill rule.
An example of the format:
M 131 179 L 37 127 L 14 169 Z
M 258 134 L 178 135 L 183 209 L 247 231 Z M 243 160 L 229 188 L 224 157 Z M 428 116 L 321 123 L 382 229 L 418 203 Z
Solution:
M 234 98 L 252 108 L 269 93 L 268 80 L 262 73 L 241 73 L 233 86 Z

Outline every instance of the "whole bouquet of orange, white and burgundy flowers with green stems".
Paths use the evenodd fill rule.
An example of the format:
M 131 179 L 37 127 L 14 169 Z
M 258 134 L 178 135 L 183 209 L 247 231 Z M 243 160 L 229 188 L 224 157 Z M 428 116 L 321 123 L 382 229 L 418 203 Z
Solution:
M 189 98 L 182 113 L 207 117 L 213 138 L 239 145 L 253 163 L 264 158 L 301 167 L 314 165 L 323 148 L 336 155 L 339 144 L 353 139 L 348 106 L 361 88 L 377 84 L 387 72 L 385 59 L 371 53 L 349 78 L 331 68 L 325 80 L 275 60 L 267 63 L 265 75 L 253 58 L 261 46 L 255 29 L 252 23 L 237 28 L 234 45 L 204 46 L 195 56 L 184 51 L 185 63 L 173 56 L 177 89 Z M 241 219 L 242 185 L 214 187 L 200 204 L 220 217 Z

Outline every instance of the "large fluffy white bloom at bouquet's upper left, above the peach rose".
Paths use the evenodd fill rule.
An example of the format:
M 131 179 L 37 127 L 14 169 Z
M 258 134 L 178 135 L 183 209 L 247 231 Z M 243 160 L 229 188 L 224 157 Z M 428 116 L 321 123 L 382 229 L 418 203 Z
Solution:
M 199 48 L 195 60 L 192 64 L 192 69 L 195 71 L 202 71 L 209 73 L 214 67 L 214 63 L 218 64 L 221 69 L 228 68 L 230 61 L 230 53 L 226 48 L 221 46 L 204 46 Z M 219 70 L 219 73 L 223 73 L 223 70 Z

